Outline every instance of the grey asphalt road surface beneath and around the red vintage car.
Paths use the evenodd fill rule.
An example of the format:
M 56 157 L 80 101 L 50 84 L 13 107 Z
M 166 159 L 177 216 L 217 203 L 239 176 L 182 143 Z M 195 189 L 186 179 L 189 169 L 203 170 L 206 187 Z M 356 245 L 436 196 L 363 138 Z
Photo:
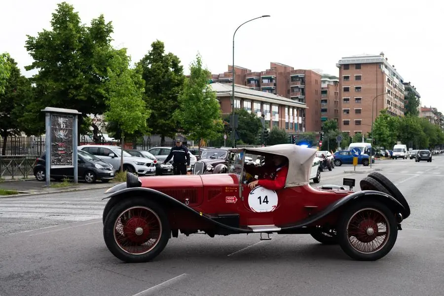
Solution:
M 259 235 L 194 234 L 171 239 L 152 262 L 126 264 L 103 242 L 103 189 L 2 198 L 0 295 L 442 296 L 444 155 L 432 163 L 398 159 L 375 167 L 412 210 L 391 253 L 376 262 L 353 261 L 309 235 L 259 241 Z M 351 177 L 359 190 L 367 174 L 345 169 L 350 166 L 323 172 L 321 185 Z

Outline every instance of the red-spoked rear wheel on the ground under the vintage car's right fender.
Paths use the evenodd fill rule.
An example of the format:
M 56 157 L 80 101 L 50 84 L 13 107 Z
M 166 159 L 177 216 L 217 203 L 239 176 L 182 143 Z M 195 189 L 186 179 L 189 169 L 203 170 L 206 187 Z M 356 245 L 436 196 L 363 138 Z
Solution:
M 368 200 L 351 206 L 339 221 L 339 244 L 356 260 L 381 259 L 393 248 L 397 237 L 395 215 L 377 201 Z

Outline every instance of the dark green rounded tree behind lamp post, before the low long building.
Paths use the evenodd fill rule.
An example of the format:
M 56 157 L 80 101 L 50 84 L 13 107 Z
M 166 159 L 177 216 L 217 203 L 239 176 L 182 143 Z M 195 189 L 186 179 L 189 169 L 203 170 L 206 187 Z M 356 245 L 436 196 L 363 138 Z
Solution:
M 254 114 L 249 113 L 245 109 L 237 109 L 234 114 L 238 115 L 238 127 L 236 128 L 236 133 L 239 136 L 239 140 L 236 143 L 240 144 L 238 141 L 248 145 L 255 145 L 258 143 L 258 135 L 262 133 L 262 122 L 260 118 Z M 223 121 L 226 122 L 224 125 L 224 133 L 227 135 L 227 142 L 229 141 L 230 146 L 232 146 L 232 128 L 229 126 L 231 114 L 223 116 Z

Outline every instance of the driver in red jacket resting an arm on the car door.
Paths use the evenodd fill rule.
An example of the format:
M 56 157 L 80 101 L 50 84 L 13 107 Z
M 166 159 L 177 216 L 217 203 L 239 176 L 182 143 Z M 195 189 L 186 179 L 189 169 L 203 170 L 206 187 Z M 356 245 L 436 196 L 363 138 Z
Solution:
M 266 157 L 268 158 L 268 157 Z M 253 181 L 248 184 L 250 189 L 254 189 L 256 186 L 263 186 L 267 189 L 279 190 L 284 188 L 285 181 L 288 174 L 288 160 L 281 155 L 272 156 L 272 165 L 265 164 L 263 167 L 253 169 L 255 173 L 252 175 L 258 175 L 263 173 L 263 179 Z M 260 174 L 259 173 L 259 174 Z

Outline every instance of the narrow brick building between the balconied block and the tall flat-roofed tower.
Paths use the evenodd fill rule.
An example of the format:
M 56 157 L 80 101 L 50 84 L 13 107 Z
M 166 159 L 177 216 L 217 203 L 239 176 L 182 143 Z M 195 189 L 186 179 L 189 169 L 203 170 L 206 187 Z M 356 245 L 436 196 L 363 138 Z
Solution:
M 323 74 L 321 77 L 321 122 L 334 119 L 339 124 L 339 78 Z

